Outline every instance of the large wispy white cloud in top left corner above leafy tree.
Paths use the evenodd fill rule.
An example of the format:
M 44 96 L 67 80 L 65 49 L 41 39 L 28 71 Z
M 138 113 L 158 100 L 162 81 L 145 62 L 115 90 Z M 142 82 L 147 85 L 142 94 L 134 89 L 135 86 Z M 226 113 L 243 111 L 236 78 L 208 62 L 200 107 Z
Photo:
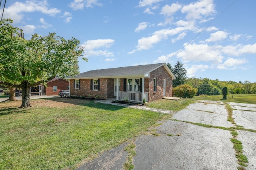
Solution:
M 48 3 L 44 1 L 27 0 L 25 3 L 15 2 L 4 10 L 4 18 L 12 18 L 14 23 L 19 23 L 25 12 L 41 12 L 50 16 L 55 16 L 61 11 L 57 8 L 48 8 Z

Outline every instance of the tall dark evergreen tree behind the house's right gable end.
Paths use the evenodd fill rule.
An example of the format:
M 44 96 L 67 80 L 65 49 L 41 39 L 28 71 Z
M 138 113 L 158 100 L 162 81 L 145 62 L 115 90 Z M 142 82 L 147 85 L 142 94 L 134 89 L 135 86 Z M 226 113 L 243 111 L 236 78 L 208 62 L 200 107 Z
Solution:
M 185 84 L 187 79 L 187 70 L 183 67 L 183 64 L 180 61 L 177 61 L 177 63 L 174 65 L 174 68 L 172 68 L 172 72 L 176 77 L 176 79 L 173 80 L 173 87 Z

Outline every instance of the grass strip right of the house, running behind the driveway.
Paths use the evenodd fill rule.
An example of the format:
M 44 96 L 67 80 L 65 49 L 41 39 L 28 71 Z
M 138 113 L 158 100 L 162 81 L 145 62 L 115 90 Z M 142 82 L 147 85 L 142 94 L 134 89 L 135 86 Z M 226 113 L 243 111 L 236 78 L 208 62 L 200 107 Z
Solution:
M 189 104 L 192 104 L 197 100 L 212 100 L 212 101 L 220 101 L 220 102 L 256 104 L 256 94 L 232 94 L 232 95 L 230 94 L 230 95 L 227 95 L 227 100 L 222 100 L 222 98 L 223 98 L 222 95 L 218 95 L 218 96 L 195 96 L 192 99 L 180 99 L 177 101 L 161 99 L 154 102 L 148 102 L 146 103 L 146 106 L 151 108 L 156 108 L 156 109 L 179 111 L 186 108 Z

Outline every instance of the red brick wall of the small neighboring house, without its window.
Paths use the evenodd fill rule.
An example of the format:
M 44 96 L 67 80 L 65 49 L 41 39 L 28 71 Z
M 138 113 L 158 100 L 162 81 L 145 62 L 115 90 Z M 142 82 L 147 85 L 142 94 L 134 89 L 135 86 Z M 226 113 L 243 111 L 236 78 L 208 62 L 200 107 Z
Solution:
M 57 92 L 53 92 L 53 86 L 57 86 Z M 68 90 L 68 86 L 69 86 L 69 82 L 62 79 L 49 82 L 47 83 L 46 95 L 47 96 L 58 95 L 60 90 Z

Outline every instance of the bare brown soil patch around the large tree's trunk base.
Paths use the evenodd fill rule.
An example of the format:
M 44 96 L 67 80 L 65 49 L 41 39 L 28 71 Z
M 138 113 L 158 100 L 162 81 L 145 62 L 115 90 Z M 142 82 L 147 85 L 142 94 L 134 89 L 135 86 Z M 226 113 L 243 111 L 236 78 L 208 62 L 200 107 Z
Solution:
M 45 98 L 45 99 L 36 99 L 30 100 L 32 107 L 64 107 L 64 106 L 75 106 L 88 103 L 89 100 L 85 99 L 76 99 L 76 98 Z M 0 108 L 3 107 L 20 107 L 21 101 L 13 102 L 1 102 Z

